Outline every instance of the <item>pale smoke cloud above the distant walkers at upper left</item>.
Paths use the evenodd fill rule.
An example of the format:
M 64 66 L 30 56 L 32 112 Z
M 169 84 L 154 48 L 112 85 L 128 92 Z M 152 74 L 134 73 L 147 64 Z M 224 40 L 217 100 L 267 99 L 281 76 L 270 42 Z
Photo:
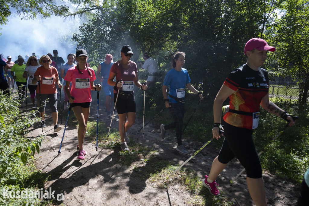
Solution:
M 0 53 L 4 57 L 12 56 L 12 61 L 21 55 L 53 54 L 53 50 L 58 50 L 58 56 L 66 61 L 69 53 L 76 52 L 76 43 L 71 40 L 73 32 L 78 32 L 78 20 L 63 19 L 51 16 L 49 19 L 25 20 L 12 14 L 8 18 L 8 23 L 2 25 L 0 31 L 1 48 Z

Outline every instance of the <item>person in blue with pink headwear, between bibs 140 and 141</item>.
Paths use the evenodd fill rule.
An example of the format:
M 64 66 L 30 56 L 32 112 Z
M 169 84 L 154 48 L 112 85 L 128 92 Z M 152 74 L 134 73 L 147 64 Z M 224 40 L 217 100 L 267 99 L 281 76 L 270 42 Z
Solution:
M 101 62 L 98 66 L 98 71 L 97 71 L 97 77 L 100 78 L 100 82 L 102 82 L 102 86 L 104 89 L 105 93 L 105 111 L 107 112 L 106 116 L 110 117 L 111 112 L 110 108 L 112 103 L 114 102 L 114 87 L 108 85 L 108 77 L 109 77 L 109 72 L 111 71 L 112 65 L 114 64 L 113 62 L 113 56 L 111 54 L 107 54 L 105 57 L 105 61 Z M 101 74 L 100 74 L 101 73 Z

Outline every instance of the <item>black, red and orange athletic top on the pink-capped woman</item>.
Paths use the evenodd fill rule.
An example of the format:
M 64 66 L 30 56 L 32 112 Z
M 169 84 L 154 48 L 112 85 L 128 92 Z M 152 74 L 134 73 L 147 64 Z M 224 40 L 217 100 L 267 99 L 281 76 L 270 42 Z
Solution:
M 252 129 L 252 114 L 260 111 L 260 102 L 268 94 L 268 73 L 254 71 L 247 64 L 234 69 L 223 83 L 235 92 L 230 95 L 230 111 L 223 117 L 226 123 Z

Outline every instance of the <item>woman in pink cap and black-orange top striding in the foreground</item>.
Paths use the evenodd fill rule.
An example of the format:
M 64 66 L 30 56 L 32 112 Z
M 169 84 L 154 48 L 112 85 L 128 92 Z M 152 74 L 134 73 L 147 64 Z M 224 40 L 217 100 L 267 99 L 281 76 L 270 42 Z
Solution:
M 223 136 L 220 130 L 224 130 L 225 138 L 219 155 L 212 163 L 210 174 L 205 175 L 202 181 L 214 196 L 220 195 L 215 179 L 227 163 L 236 157 L 246 169 L 252 200 L 258 206 L 267 206 L 262 166 L 252 139 L 253 129 L 257 128 L 259 122 L 260 106 L 290 121 L 289 126 L 295 124 L 290 114 L 269 101 L 268 73 L 260 68 L 267 59 L 267 52 L 275 50 L 275 47 L 269 46 L 263 39 L 250 39 L 244 48 L 247 63 L 228 75 L 214 100 L 213 138 Z M 230 109 L 221 122 L 222 103 L 227 97 L 230 98 Z

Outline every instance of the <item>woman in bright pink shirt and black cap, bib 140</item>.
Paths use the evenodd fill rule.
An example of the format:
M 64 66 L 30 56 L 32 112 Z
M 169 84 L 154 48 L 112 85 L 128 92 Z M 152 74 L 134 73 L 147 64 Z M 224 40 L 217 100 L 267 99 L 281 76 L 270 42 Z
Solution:
M 101 85 L 94 85 L 95 72 L 89 68 L 87 62 L 87 52 L 84 49 L 76 51 L 77 65 L 70 68 L 64 80 L 66 81 L 65 91 L 69 97 L 70 107 L 78 121 L 78 151 L 77 159 L 84 160 L 87 152 L 83 149 L 83 142 L 87 129 L 87 121 L 90 112 L 91 90 L 102 89 Z M 72 87 L 70 90 L 70 82 Z M 74 99 L 72 98 L 74 97 Z

